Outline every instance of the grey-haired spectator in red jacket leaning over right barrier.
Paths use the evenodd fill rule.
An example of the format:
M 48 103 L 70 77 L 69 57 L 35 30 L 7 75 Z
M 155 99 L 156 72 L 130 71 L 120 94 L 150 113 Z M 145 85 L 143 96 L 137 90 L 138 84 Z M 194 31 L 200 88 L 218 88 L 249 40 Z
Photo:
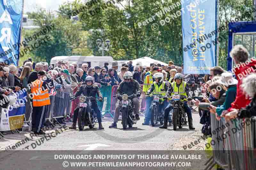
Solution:
M 234 73 L 236 74 L 238 84 L 235 101 L 231 103 L 231 107 L 229 107 L 227 111 L 223 111 L 222 113 L 228 120 L 230 118 L 237 117 L 238 110 L 240 110 L 242 107 L 246 107 L 251 102 L 250 99 L 246 98 L 240 85 L 246 76 L 256 71 L 256 60 L 248 60 L 249 52 L 246 48 L 244 48 L 243 45 L 234 46 L 230 52 L 230 56 L 233 58 L 234 63 L 236 64 Z M 228 112 L 230 113 L 226 115 Z

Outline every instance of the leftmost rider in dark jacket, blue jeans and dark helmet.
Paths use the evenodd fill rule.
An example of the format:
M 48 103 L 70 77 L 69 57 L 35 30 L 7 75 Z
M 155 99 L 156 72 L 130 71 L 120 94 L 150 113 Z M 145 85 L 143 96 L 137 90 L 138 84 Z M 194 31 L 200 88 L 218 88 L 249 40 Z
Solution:
M 76 92 L 75 97 L 78 97 L 81 94 L 84 96 L 87 96 L 87 97 L 92 96 L 94 98 L 96 98 L 96 94 L 97 94 L 99 97 L 99 101 L 102 102 L 102 100 L 103 100 L 100 89 L 97 86 L 97 84 L 94 83 L 94 78 L 92 76 L 87 76 L 85 78 L 85 85 L 81 85 L 81 87 L 79 88 L 79 91 Z M 72 99 L 74 99 L 74 98 L 72 98 Z M 91 99 L 91 102 L 92 102 L 92 108 L 94 109 L 95 113 L 97 114 L 97 119 L 99 122 L 99 129 L 104 129 L 101 124 L 101 113 L 100 113 L 100 109 L 97 105 L 97 101 L 95 99 Z M 69 129 L 76 129 L 76 120 L 78 117 L 78 111 L 79 111 L 79 107 L 76 107 L 76 109 L 74 111 L 73 125 Z

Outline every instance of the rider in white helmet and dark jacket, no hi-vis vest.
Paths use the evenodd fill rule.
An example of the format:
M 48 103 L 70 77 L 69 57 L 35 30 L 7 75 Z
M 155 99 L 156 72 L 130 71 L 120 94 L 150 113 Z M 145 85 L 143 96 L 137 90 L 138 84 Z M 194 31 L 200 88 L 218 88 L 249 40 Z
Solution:
M 136 97 L 132 99 L 132 103 L 135 105 L 134 113 L 135 113 L 135 119 L 140 120 L 139 117 L 139 104 L 140 101 L 138 97 L 140 97 L 142 89 L 138 81 L 132 79 L 132 72 L 127 71 L 124 73 L 124 80 L 120 83 L 116 90 L 116 95 L 122 96 L 123 94 L 127 94 L 128 96 L 132 94 L 136 94 Z M 122 107 L 122 100 L 120 97 L 118 97 L 119 101 L 115 110 L 114 115 L 114 122 L 109 126 L 109 128 L 117 128 L 116 123 L 118 122 L 119 117 L 119 110 Z

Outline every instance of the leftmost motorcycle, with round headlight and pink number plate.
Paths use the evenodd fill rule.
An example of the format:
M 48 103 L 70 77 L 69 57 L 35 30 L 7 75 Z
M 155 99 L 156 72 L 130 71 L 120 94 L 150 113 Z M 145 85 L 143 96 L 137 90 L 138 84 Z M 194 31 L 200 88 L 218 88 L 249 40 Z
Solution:
M 71 97 L 74 98 L 74 96 L 70 95 Z M 79 98 L 79 111 L 78 111 L 78 128 L 79 130 L 84 130 L 84 126 L 89 126 L 90 129 L 92 129 L 95 125 L 95 118 L 96 113 L 94 110 L 91 108 L 92 107 L 92 102 L 91 99 L 98 100 L 94 97 L 86 97 L 81 95 Z M 75 99 L 76 99 L 75 98 Z M 75 99 L 72 99 L 70 101 L 73 101 Z

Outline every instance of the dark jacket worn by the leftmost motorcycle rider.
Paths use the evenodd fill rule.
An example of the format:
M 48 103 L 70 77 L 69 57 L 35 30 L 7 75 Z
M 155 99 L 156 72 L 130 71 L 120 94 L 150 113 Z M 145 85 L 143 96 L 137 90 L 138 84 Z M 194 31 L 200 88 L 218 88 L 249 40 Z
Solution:
M 102 94 L 100 92 L 100 89 L 97 85 L 92 85 L 92 87 L 88 88 L 86 85 L 81 85 L 79 90 L 76 92 L 75 97 L 80 96 L 83 94 L 86 97 L 94 97 L 96 98 L 96 94 L 98 95 L 99 98 L 102 98 Z M 91 99 L 92 102 L 95 102 L 95 99 Z

